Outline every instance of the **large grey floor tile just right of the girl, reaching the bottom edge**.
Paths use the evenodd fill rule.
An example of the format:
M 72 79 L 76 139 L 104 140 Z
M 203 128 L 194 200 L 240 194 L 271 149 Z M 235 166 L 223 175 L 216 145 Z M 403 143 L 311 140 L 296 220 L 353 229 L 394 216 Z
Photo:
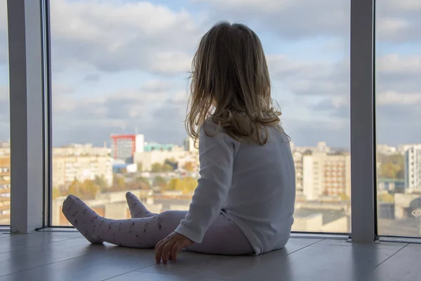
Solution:
M 395 253 L 393 249 L 316 243 L 288 256 L 256 259 L 229 280 L 354 281 Z

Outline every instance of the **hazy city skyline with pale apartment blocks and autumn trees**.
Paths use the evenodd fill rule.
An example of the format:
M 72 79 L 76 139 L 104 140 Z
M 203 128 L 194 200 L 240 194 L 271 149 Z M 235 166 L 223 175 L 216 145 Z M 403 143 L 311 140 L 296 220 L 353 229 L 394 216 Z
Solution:
M 133 136 L 131 137 L 132 141 L 127 143 L 128 147 L 133 145 L 133 140 L 135 140 Z M 140 138 L 142 139 L 143 136 L 140 135 Z M 8 143 L 2 145 L 8 152 Z M 180 197 L 173 199 L 173 207 L 170 206 L 170 208 L 188 208 L 186 200 L 196 187 L 197 171 L 199 171 L 197 151 L 192 149 L 190 143 L 185 147 L 178 148 L 171 147 L 171 145 L 152 144 L 153 147 L 163 148 L 163 150 L 150 149 L 152 148 L 150 145 L 145 143 L 145 150 L 140 148 L 133 151 L 133 162 L 127 162 L 123 166 L 120 166 L 121 162 L 116 162 L 119 169 L 114 169 L 111 148 L 78 144 L 69 145 L 66 148 L 53 148 L 53 205 L 57 208 L 56 205 L 60 204 L 67 192 L 72 194 L 76 192 L 84 199 L 92 200 L 91 202 L 98 204 L 98 208 L 102 208 L 102 211 L 112 212 L 114 216 L 116 213 L 112 209 L 119 209 L 120 203 L 117 204 L 114 201 L 116 199 L 112 199 L 112 197 L 121 199 L 123 190 L 140 190 L 142 192 L 149 190 L 147 196 L 150 200 L 148 200 L 154 208 L 162 208 L 161 203 L 152 203 L 154 199 L 161 198 L 161 196 Z M 125 149 L 121 145 L 119 148 Z M 413 159 L 408 152 L 415 151 L 415 149 L 417 153 Z M 413 208 L 411 207 L 414 204 L 413 200 L 417 200 L 420 195 L 419 176 L 417 175 L 421 174 L 419 165 L 415 164 L 414 166 L 410 163 L 414 160 L 415 162 L 420 161 L 421 144 L 403 145 L 399 148 L 382 145 L 380 150 L 385 156 L 377 159 L 377 203 L 380 211 L 380 231 L 386 234 L 392 231 L 392 234 L 396 234 L 399 230 L 390 222 L 390 219 L 396 216 L 397 223 L 403 222 L 409 227 L 409 230 L 405 230 L 401 234 L 415 235 L 419 230 L 413 223 L 413 218 L 407 214 L 407 210 Z M 392 157 L 399 155 L 399 157 L 387 158 L 391 155 Z M 321 142 L 310 148 L 293 146 L 293 157 L 297 192 L 297 222 L 294 229 L 297 231 L 348 231 L 349 200 L 351 198 L 349 152 L 336 153 L 333 148 Z M 10 155 L 6 155 L 6 161 L 7 159 L 10 159 Z M 168 159 L 173 159 L 171 161 L 176 162 L 177 165 L 168 166 Z M 409 169 L 406 168 L 408 164 L 412 165 Z M 10 171 L 9 166 L 10 164 L 4 165 L 2 171 Z M 382 169 L 382 166 L 385 166 L 385 169 Z M 387 176 L 391 168 L 394 170 L 394 174 Z M 415 175 L 415 185 L 408 183 L 406 176 L 408 171 Z M 405 174 L 405 178 L 403 178 L 402 172 Z M 165 178 L 166 182 L 165 188 L 159 190 L 157 197 L 154 195 L 154 191 L 159 186 L 162 188 L 161 183 L 163 182 L 156 182 L 156 178 Z M 5 192 L 10 191 L 10 185 L 2 185 L 2 188 L 2 195 L 7 195 Z M 175 188 L 175 190 L 171 188 Z M 106 197 L 109 197 L 109 202 L 104 201 Z M 3 207 L 8 207 L 4 205 L 7 200 L 8 197 L 3 197 Z M 163 211 L 165 208 L 159 210 Z M 395 208 L 396 211 L 391 208 Z M 0 213 L 2 216 L 8 216 L 7 209 L 0 210 Z M 119 216 L 127 214 L 122 210 Z M 65 223 L 65 221 L 60 222 L 60 215 L 53 216 L 53 221 L 57 220 L 60 225 Z

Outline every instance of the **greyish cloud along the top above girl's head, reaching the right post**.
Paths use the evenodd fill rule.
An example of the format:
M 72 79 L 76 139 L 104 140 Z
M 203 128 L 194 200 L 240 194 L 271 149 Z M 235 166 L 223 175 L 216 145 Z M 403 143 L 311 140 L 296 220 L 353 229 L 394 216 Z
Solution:
M 210 20 L 252 22 L 279 38 L 349 37 L 349 0 L 195 0 Z

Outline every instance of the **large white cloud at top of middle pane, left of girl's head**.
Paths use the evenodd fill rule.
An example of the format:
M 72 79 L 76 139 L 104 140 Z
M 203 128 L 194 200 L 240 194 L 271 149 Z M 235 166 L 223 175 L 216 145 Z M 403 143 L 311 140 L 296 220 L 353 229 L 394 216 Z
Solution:
M 51 2 L 53 69 L 187 72 L 199 27 L 184 9 L 147 1 Z

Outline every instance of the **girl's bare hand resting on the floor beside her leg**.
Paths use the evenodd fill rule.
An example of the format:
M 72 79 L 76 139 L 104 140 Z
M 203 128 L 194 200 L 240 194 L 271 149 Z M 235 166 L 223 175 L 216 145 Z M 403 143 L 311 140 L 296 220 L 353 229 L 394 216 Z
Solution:
M 155 260 L 160 263 L 167 263 L 168 258 L 172 261 L 177 260 L 177 254 L 180 249 L 183 249 L 191 244 L 192 240 L 178 233 L 171 233 L 164 240 L 159 241 L 155 246 Z

